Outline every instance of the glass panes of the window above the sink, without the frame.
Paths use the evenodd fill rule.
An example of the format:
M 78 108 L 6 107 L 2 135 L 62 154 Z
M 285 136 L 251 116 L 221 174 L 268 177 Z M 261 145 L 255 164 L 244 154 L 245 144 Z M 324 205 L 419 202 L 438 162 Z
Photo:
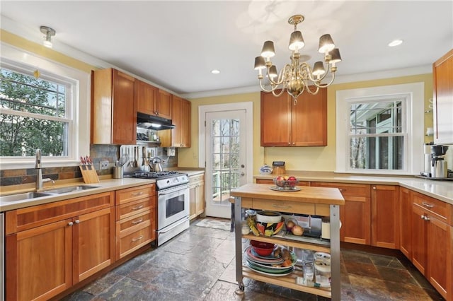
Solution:
M 71 83 L 0 68 L 0 156 L 68 155 Z

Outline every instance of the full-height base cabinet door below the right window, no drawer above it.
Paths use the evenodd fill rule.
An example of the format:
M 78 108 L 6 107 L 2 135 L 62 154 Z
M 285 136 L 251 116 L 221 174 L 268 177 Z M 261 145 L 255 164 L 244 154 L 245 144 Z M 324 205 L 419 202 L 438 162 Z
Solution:
M 399 190 L 394 185 L 372 185 L 371 242 L 373 246 L 399 249 Z

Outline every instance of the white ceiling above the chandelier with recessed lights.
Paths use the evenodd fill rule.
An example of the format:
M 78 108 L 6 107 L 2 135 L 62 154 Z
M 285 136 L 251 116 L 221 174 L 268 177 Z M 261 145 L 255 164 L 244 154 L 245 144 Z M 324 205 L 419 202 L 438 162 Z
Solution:
M 193 98 L 258 90 L 254 58 L 273 40 L 277 69 L 289 62 L 287 20 L 294 14 L 305 16 L 298 30 L 311 65 L 323 58 L 319 37 L 331 34 L 343 58 L 338 80 L 398 69 L 429 73 L 453 48 L 453 1 L 2 0 L 1 28 L 42 42 L 40 25 L 49 26 L 57 51 Z M 394 39 L 404 42 L 388 47 Z

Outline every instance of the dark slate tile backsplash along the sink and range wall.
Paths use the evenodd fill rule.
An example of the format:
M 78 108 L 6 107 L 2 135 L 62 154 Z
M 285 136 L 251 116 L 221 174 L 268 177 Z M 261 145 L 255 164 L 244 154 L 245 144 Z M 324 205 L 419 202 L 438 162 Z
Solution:
M 156 156 L 163 160 L 164 169 L 178 166 L 178 151 L 175 156 L 168 157 L 166 148 L 155 148 Z M 141 154 L 141 153 L 140 153 Z M 120 158 L 120 146 L 93 144 L 90 146 L 90 156 L 98 175 L 111 175 L 113 166 Z M 108 169 L 100 170 L 101 161 L 108 161 Z M 42 177 L 57 180 L 81 178 L 79 166 L 43 167 Z M 0 186 L 30 184 L 36 182 L 35 168 L 19 170 L 0 170 Z

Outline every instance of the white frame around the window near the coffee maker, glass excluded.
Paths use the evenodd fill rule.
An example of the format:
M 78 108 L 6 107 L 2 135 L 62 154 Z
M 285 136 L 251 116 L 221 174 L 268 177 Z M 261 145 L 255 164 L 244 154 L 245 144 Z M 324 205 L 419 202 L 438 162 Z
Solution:
M 405 102 L 402 122 L 406 126 L 402 170 L 352 169 L 350 167 L 350 105 L 355 102 L 389 101 L 401 98 Z M 336 172 L 377 175 L 418 175 L 423 170 L 424 83 L 384 85 L 336 91 Z M 389 136 L 395 136 L 389 134 Z M 402 136 L 398 134 L 396 136 Z

